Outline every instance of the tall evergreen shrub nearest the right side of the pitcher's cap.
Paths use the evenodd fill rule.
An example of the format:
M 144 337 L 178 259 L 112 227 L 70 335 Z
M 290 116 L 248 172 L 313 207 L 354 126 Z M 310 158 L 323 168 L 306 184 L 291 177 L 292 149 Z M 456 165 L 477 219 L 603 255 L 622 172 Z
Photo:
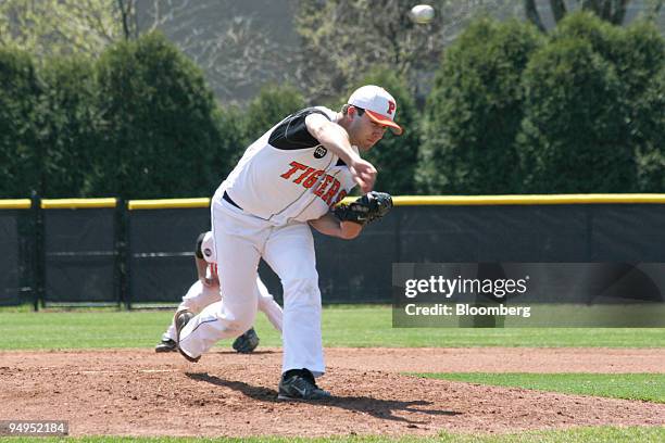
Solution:
M 518 191 L 514 140 L 523 118 L 520 77 L 540 46 L 530 25 L 482 18 L 448 48 L 427 100 L 422 190 Z

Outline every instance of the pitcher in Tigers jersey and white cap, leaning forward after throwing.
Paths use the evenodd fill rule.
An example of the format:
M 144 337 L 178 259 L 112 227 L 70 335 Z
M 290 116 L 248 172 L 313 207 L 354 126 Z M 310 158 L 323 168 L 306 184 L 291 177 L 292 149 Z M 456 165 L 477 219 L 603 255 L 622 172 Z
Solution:
M 315 382 L 325 364 L 310 227 L 353 239 L 366 220 L 389 208 L 389 195 L 374 193 L 338 216 L 331 211 L 356 185 L 363 193 L 372 191 L 377 173 L 360 152 L 372 149 L 387 128 L 402 132 L 396 111 L 385 89 L 363 86 L 339 112 L 323 106 L 301 110 L 247 149 L 211 204 L 224 299 L 199 315 L 184 309 L 175 316 L 176 342 L 186 359 L 198 362 L 217 340 L 242 333 L 253 324 L 256 266 L 263 257 L 284 287 L 278 398 L 330 396 Z

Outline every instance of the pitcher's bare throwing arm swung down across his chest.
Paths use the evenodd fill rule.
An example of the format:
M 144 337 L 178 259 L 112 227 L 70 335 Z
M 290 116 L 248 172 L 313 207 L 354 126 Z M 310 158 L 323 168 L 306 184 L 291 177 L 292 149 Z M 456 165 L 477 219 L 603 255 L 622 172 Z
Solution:
M 376 181 L 376 168 L 351 149 L 349 135 L 344 128 L 318 113 L 308 115 L 305 125 L 321 144 L 332 151 L 349 166 L 353 180 L 361 187 L 363 193 L 372 191 Z

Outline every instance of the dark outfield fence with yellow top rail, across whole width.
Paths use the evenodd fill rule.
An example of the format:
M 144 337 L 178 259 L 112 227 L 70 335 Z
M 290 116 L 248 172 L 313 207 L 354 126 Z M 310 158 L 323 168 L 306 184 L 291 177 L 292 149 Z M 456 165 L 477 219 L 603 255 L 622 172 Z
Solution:
M 665 194 L 397 197 L 353 241 L 315 233 L 324 303 L 390 303 L 393 263 L 665 263 Z M 210 199 L 0 200 L 0 305 L 173 305 Z M 281 299 L 277 276 L 260 274 Z

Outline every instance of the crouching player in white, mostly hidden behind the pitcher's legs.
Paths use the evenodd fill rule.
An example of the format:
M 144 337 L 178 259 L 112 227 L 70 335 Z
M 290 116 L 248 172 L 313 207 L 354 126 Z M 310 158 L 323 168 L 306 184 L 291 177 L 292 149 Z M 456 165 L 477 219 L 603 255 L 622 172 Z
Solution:
M 199 278 L 189 288 L 177 311 L 187 309 L 192 313 L 200 313 L 205 306 L 221 300 L 216 253 L 212 232 L 208 231 L 199 236 L 195 249 L 195 263 Z M 275 302 L 259 276 L 255 279 L 255 292 L 259 309 L 265 314 L 275 329 L 281 332 L 281 307 Z M 166 332 L 162 334 L 162 341 L 158 343 L 154 351 L 159 353 L 177 351 L 175 338 L 175 325 L 172 322 Z M 233 343 L 234 350 L 243 354 L 254 351 L 258 345 L 259 337 L 254 328 L 247 330 Z

